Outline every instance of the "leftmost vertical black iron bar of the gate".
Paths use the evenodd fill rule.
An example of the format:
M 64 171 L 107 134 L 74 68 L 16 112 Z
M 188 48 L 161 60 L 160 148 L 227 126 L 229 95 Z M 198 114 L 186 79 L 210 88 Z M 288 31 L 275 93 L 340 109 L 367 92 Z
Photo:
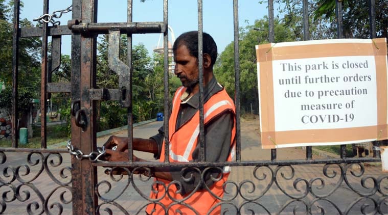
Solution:
M 17 148 L 17 103 L 18 103 L 18 76 L 19 76 L 19 15 L 20 0 L 13 2 L 13 39 L 12 39 L 12 147 Z

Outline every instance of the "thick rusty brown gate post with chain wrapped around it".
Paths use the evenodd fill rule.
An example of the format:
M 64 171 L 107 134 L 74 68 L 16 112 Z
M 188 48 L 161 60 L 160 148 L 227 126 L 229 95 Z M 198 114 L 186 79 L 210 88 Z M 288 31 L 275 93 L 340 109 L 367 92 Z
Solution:
M 83 22 L 97 21 L 97 0 L 73 0 L 72 19 Z M 89 89 L 96 83 L 96 36 L 72 34 L 72 102 L 79 100 L 80 109 L 85 110 L 86 126 L 76 126 L 72 116 L 72 144 L 88 154 L 96 150 L 95 103 Z M 72 156 L 73 214 L 95 214 L 97 198 L 94 186 L 97 169 L 89 159 L 78 160 Z

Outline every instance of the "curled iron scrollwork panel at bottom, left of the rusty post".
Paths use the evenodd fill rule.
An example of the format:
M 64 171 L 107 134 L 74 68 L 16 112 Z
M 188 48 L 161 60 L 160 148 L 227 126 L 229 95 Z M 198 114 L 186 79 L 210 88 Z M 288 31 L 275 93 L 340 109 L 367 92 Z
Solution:
M 25 211 L 22 208 L 17 208 L 17 213 L 28 213 L 28 214 L 61 214 L 63 212 L 63 205 L 70 204 L 72 202 L 72 187 L 69 186 L 71 183 L 71 169 L 70 167 L 64 167 L 59 170 L 59 174 L 53 174 L 51 167 L 58 168 L 62 163 L 62 157 L 58 153 L 48 153 L 44 155 L 39 152 L 30 152 L 27 155 L 27 159 L 13 159 L 12 162 L 18 166 L 5 166 L 3 167 L 0 176 L 0 189 L 2 191 L 2 200 L 0 200 L 0 213 L 7 212 L 7 203 L 19 201 L 25 204 Z M 53 156 L 51 156 L 53 155 Z M 7 156 L 4 152 L 0 152 L 0 163 L 7 165 L 5 162 Z M 42 174 L 43 171 L 47 172 L 52 180 L 48 180 L 47 175 Z M 66 179 L 67 181 L 61 182 L 57 177 Z M 70 177 L 69 177 L 70 176 Z M 43 183 L 40 183 L 43 180 Z M 49 184 L 54 181 L 59 184 L 57 187 L 50 186 Z M 39 187 L 39 184 L 44 184 L 44 187 Z M 47 186 L 49 185 L 49 186 Z M 50 187 L 50 188 L 49 188 Z M 43 194 L 52 189 L 47 197 Z M 64 191 L 62 190 L 64 189 Z M 58 202 L 49 203 L 53 196 L 59 196 Z M 55 200 L 56 201 L 56 200 Z

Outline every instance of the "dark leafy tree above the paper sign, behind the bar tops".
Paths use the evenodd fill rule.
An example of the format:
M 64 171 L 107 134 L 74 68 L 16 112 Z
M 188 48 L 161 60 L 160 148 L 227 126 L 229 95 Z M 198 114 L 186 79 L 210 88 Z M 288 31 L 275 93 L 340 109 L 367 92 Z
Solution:
M 386 37 L 388 26 L 388 2 L 375 1 L 376 35 Z M 291 26 L 295 35 L 303 33 L 301 0 L 277 0 L 284 22 Z M 343 3 L 343 32 L 345 38 L 370 38 L 369 1 L 349 0 Z M 308 3 L 311 39 L 337 38 L 335 0 L 315 0 Z

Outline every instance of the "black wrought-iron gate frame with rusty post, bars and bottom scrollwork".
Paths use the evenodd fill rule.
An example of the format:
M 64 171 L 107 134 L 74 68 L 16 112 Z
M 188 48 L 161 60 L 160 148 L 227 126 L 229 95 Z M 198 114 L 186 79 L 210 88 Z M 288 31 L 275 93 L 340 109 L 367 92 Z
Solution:
M 198 60 L 199 64 L 202 64 L 202 0 L 197 0 L 198 3 Z M 371 23 L 371 38 L 376 37 L 376 21 L 375 21 L 375 0 L 370 0 L 370 23 Z M 342 13 L 343 13 L 343 2 L 336 0 L 336 14 L 337 14 L 337 37 L 343 38 L 342 31 Z M 340 169 L 340 183 L 344 182 L 349 187 L 350 190 L 359 195 L 359 199 L 372 199 L 372 195 L 378 193 L 381 195 L 381 198 L 378 200 L 373 200 L 374 208 L 373 212 L 382 213 L 381 207 L 386 201 L 388 201 L 388 192 L 384 187 L 380 187 L 383 184 L 384 180 L 388 180 L 388 177 L 379 177 L 373 178 L 367 176 L 366 178 L 361 179 L 362 181 L 371 179 L 374 181 L 373 187 L 371 187 L 371 192 L 363 193 L 359 192 L 347 180 L 347 172 L 353 174 L 351 167 L 358 166 L 361 174 L 358 177 L 361 177 L 363 174 L 364 166 L 361 163 L 371 163 L 371 162 L 380 162 L 379 153 L 376 152 L 376 157 L 366 157 L 366 158 L 348 158 L 346 157 L 346 145 L 341 145 L 340 148 L 340 158 L 330 158 L 330 159 L 312 159 L 312 148 L 311 146 L 306 147 L 306 158 L 298 160 L 277 160 L 277 151 L 276 149 L 271 150 L 270 160 L 254 160 L 254 161 L 242 161 L 241 160 L 241 133 L 240 133 L 240 70 L 239 70 L 239 22 L 238 22 L 238 0 L 233 1 L 233 15 L 234 15 L 234 57 L 235 57 L 235 89 L 236 89 L 236 161 L 235 162 L 206 162 L 206 142 L 204 140 L 204 120 L 203 120 L 203 85 L 199 87 L 199 115 L 200 115 L 200 135 L 199 135 L 199 144 L 200 144 L 200 162 L 190 162 L 190 163 L 170 163 L 168 160 L 169 150 L 165 150 L 165 162 L 154 163 L 154 162 L 90 162 L 88 159 L 77 159 L 75 156 L 72 156 L 71 163 L 72 166 L 64 167 L 62 171 L 71 171 L 71 180 L 66 182 L 59 181 L 50 171 L 50 165 L 59 166 L 62 164 L 62 155 L 63 153 L 68 153 L 67 150 L 61 149 L 47 149 L 47 132 L 46 132 L 46 119 L 45 113 L 46 105 L 45 102 L 47 98 L 50 97 L 50 93 L 56 92 L 70 92 L 72 99 L 72 144 L 77 149 L 80 149 L 84 153 L 89 153 L 96 151 L 96 101 L 97 100 L 119 100 L 123 107 L 127 108 L 127 123 L 128 123 L 128 156 L 129 160 L 133 158 L 133 130 L 132 130 L 132 52 L 128 51 L 127 53 L 127 62 L 121 62 L 118 57 L 119 44 L 120 44 L 120 35 L 126 34 L 128 37 L 127 48 L 128 50 L 132 49 L 132 35 L 133 34 L 147 34 L 147 33 L 163 33 L 164 34 L 164 115 L 166 119 L 169 118 L 169 72 L 168 72 L 168 0 L 163 0 L 163 21 L 162 22 L 132 22 L 132 0 L 127 2 L 127 22 L 115 22 L 115 23 L 97 23 L 97 0 L 73 0 L 73 11 L 72 11 L 72 20 L 66 25 L 60 26 L 49 26 L 48 23 L 43 23 L 41 27 L 36 28 L 19 28 L 19 11 L 20 11 L 20 0 L 14 0 L 14 31 L 13 31 L 13 107 L 12 107 L 12 120 L 13 122 L 17 121 L 18 109 L 15 105 L 17 103 L 17 89 L 18 89 L 18 52 L 19 52 L 19 38 L 21 37 L 41 37 L 42 38 L 42 59 L 41 59 L 41 149 L 26 149 L 19 148 L 17 140 L 17 126 L 12 128 L 12 148 L 0 148 L 0 164 L 6 163 L 7 155 L 9 152 L 27 152 L 28 154 L 28 163 L 30 166 L 35 166 L 39 162 L 42 164 L 42 169 L 47 172 L 50 178 L 55 181 L 59 187 L 71 191 L 72 199 L 65 200 L 61 199 L 61 202 L 56 202 L 51 206 L 58 207 L 59 211 L 62 211 L 62 204 L 72 203 L 73 214 L 98 214 L 102 205 L 112 204 L 117 206 L 116 199 L 104 199 L 100 194 L 99 185 L 102 182 L 99 182 L 97 178 L 97 169 L 99 167 L 106 168 L 117 168 L 124 167 L 128 168 L 128 181 L 134 183 L 132 172 L 129 171 L 131 168 L 144 169 L 150 171 L 150 167 L 180 167 L 186 169 L 192 169 L 203 175 L 210 170 L 220 170 L 224 166 L 231 167 L 253 167 L 253 174 L 256 177 L 256 171 L 259 169 L 266 169 L 270 172 L 270 184 L 276 184 L 280 190 L 281 186 L 278 184 L 278 180 L 283 178 L 293 179 L 295 183 L 305 183 L 306 190 L 301 191 L 302 193 L 311 194 L 314 199 L 310 202 L 305 201 L 301 196 L 293 196 L 292 194 L 283 191 L 283 193 L 291 198 L 290 202 L 287 202 L 279 209 L 278 212 L 282 212 L 290 203 L 300 202 L 306 207 L 306 213 L 311 213 L 313 205 L 321 200 L 327 200 L 326 197 L 329 194 L 317 195 L 314 193 L 313 183 L 316 181 L 321 181 L 323 184 L 325 178 L 315 178 L 308 181 L 308 179 L 300 178 L 287 178 L 283 175 L 277 176 L 278 172 L 282 172 L 284 168 L 289 168 L 291 172 L 294 172 L 293 166 L 297 165 L 311 165 L 311 164 L 324 164 L 323 173 L 326 177 L 331 177 L 327 173 L 327 169 L 331 166 L 336 166 Z M 275 27 L 274 27 L 274 15 L 273 15 L 273 0 L 268 0 L 268 17 L 269 17 L 269 42 L 275 42 Z M 49 0 L 43 0 L 43 14 L 49 12 Z M 303 0 L 303 17 L 304 17 L 304 39 L 309 40 L 308 32 L 308 1 Z M 99 34 L 109 34 L 110 44 L 109 44 L 109 67 L 116 71 L 119 74 L 119 89 L 97 89 L 96 88 L 96 38 Z M 51 73 L 56 70 L 60 65 L 60 44 L 62 35 L 72 35 L 72 74 L 71 74 L 71 83 L 51 83 Z M 52 58 L 48 59 L 48 38 L 52 37 Z M 116 59 L 116 60 L 115 60 Z M 203 71 L 200 67 L 199 69 L 199 83 L 203 83 Z M 73 108 L 74 107 L 74 108 Z M 164 121 L 165 129 L 165 148 L 168 148 L 168 120 Z M 379 142 L 374 143 L 375 146 L 379 145 Z M 38 155 L 38 162 L 31 160 L 31 156 Z M 58 157 L 60 162 L 56 164 L 55 162 L 50 162 L 50 157 Z M 50 164 L 50 165 L 49 165 Z M 23 166 L 25 167 L 25 166 Z M 0 213 L 3 213 L 6 209 L 6 203 L 12 202 L 15 200 L 26 201 L 25 198 L 20 197 L 20 186 L 28 184 L 32 187 L 35 193 L 39 196 L 40 192 L 34 188 L 31 181 L 25 181 L 22 179 L 23 175 L 19 173 L 19 167 L 6 167 L 4 169 L 4 175 L 8 174 L 7 171 L 11 171 L 13 176 L 11 180 L 5 180 L 0 176 L 0 186 L 9 186 L 12 187 L 12 191 L 3 193 L 3 201 L 0 200 Z M 27 167 L 28 168 L 28 167 Z M 38 174 L 40 175 L 40 173 Z M 294 176 L 294 175 L 292 175 Z M 113 178 L 113 180 L 117 180 Z M 265 178 L 265 176 L 264 176 Z M 203 179 L 203 178 L 202 178 Z M 262 180 L 258 177 L 259 180 Z M 147 178 L 150 180 L 150 177 Z M 21 185 L 14 185 L 15 182 L 20 182 Z M 203 182 L 203 181 L 202 181 Z M 201 183 L 202 183 L 201 182 Z M 109 183 L 109 182 L 104 182 Z M 269 213 L 269 210 L 265 205 L 257 203 L 260 201 L 258 196 L 254 199 L 248 198 L 241 194 L 243 189 L 243 184 L 253 183 L 252 181 L 244 181 L 242 184 L 238 185 L 235 182 L 231 182 L 233 186 L 236 187 L 237 193 L 240 193 L 240 196 L 245 200 L 241 205 L 234 205 L 232 199 L 222 199 L 220 204 L 231 204 L 234 205 L 237 209 L 237 213 L 242 213 L 243 206 L 248 203 L 256 203 L 260 207 L 264 208 L 264 211 Z M 128 185 L 128 184 L 127 184 Z M 198 184 L 199 187 L 201 184 Z M 136 189 L 136 185 L 133 184 Z M 167 184 L 166 184 L 167 186 Z M 338 188 L 338 186 L 336 187 Z M 138 190 L 136 190 L 138 191 Z M 265 192 L 267 192 L 266 190 Z M 13 193 L 12 193 L 13 192 Z M 138 191 L 142 193 L 141 191 Z M 264 194 L 265 194 L 264 192 Z M 6 197 L 9 193 L 13 194 L 13 197 Z M 54 193 L 54 192 L 53 192 Z M 11 194 L 11 196 L 12 196 Z M 189 194 L 191 196 L 193 193 Z M 263 194 L 263 195 L 264 195 Z M 238 194 L 236 194 L 237 196 Z M 40 194 L 41 196 L 41 194 Z M 49 205 L 51 194 L 48 198 L 42 201 L 41 210 L 39 213 L 51 213 L 51 206 Z M 27 198 L 28 199 L 28 198 Z M 148 203 L 157 203 L 157 201 L 148 199 L 144 197 L 145 201 Z M 101 203 L 102 201 L 102 203 Z M 329 201 L 329 200 L 327 200 Z M 178 203 L 182 203 L 179 200 L 176 200 Z M 338 213 L 347 213 L 350 211 L 350 205 L 345 211 L 341 211 L 336 207 L 335 202 L 330 202 L 337 210 Z M 27 208 L 28 213 L 34 213 L 31 209 L 30 204 Z M 53 206 L 54 205 L 54 206 Z M 144 209 L 144 208 L 142 208 Z M 143 210 L 139 210 L 138 213 L 141 213 Z M 168 207 L 164 207 L 167 211 Z M 363 212 L 364 208 L 360 208 Z M 108 210 L 109 211 L 109 210 Z M 120 209 L 121 212 L 127 213 L 124 209 Z M 323 212 L 325 210 L 322 210 Z M 321 211 L 321 212 L 322 212 Z

